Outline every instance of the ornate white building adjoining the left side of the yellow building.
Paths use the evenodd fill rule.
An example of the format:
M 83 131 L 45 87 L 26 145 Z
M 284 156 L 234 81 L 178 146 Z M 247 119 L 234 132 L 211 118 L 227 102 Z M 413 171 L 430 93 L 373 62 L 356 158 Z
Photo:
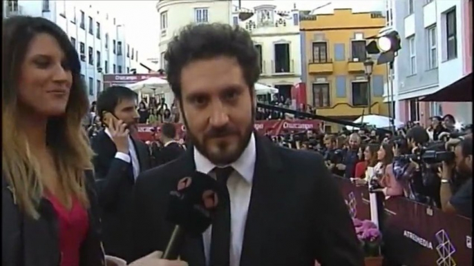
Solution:
M 236 10 L 232 21 L 245 28 L 260 52 L 259 83 L 278 88 L 291 99 L 292 86 L 301 82 L 301 37 L 299 12 L 278 11 L 276 6 Z

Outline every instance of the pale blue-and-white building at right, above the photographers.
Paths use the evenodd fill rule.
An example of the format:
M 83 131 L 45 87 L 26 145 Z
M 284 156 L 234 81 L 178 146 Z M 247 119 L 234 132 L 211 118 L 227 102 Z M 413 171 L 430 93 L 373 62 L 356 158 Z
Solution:
M 401 37 L 395 59 L 395 116 L 421 121 L 453 114 L 472 123 L 472 103 L 421 102 L 464 76 L 464 0 L 385 0 L 388 26 Z M 471 26 L 472 27 L 472 26 Z M 390 98 L 386 90 L 387 98 Z

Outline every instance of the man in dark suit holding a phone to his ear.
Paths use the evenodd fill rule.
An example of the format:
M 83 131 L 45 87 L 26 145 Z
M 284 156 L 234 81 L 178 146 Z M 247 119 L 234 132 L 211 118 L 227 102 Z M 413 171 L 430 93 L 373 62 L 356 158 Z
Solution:
M 97 99 L 97 112 L 106 124 L 92 139 L 95 152 L 97 196 L 102 209 L 102 232 L 106 254 L 127 258 L 131 195 L 135 179 L 150 167 L 150 155 L 142 141 L 133 139 L 138 121 L 137 94 L 112 86 Z

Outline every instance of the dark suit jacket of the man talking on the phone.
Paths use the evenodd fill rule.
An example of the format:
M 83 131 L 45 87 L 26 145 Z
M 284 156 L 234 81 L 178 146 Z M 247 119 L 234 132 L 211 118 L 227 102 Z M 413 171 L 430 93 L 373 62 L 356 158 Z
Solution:
M 140 163 L 140 172 L 150 168 L 150 154 L 145 143 L 133 139 Z M 130 245 L 131 197 L 135 178 L 129 172 L 129 163 L 115 158 L 117 148 L 102 130 L 91 145 L 95 156 L 95 186 L 102 211 L 104 248 L 106 254 L 127 258 Z

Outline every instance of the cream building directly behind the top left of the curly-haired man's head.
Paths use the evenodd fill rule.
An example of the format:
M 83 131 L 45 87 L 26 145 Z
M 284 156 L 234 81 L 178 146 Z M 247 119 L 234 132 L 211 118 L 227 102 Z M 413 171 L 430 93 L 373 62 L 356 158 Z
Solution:
M 189 23 L 231 23 L 231 1 L 160 0 L 156 5 L 160 16 L 160 68 L 164 69 L 164 52 L 179 30 Z

